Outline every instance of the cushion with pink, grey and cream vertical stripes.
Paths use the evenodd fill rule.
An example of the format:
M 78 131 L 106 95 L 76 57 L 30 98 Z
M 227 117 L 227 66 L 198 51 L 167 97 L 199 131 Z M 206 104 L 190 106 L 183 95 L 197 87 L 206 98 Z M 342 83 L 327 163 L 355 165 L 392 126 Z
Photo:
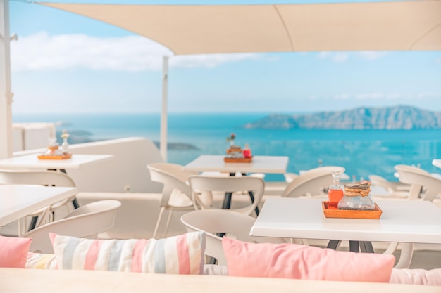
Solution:
M 59 269 L 201 274 L 205 233 L 163 239 L 92 240 L 49 233 Z

